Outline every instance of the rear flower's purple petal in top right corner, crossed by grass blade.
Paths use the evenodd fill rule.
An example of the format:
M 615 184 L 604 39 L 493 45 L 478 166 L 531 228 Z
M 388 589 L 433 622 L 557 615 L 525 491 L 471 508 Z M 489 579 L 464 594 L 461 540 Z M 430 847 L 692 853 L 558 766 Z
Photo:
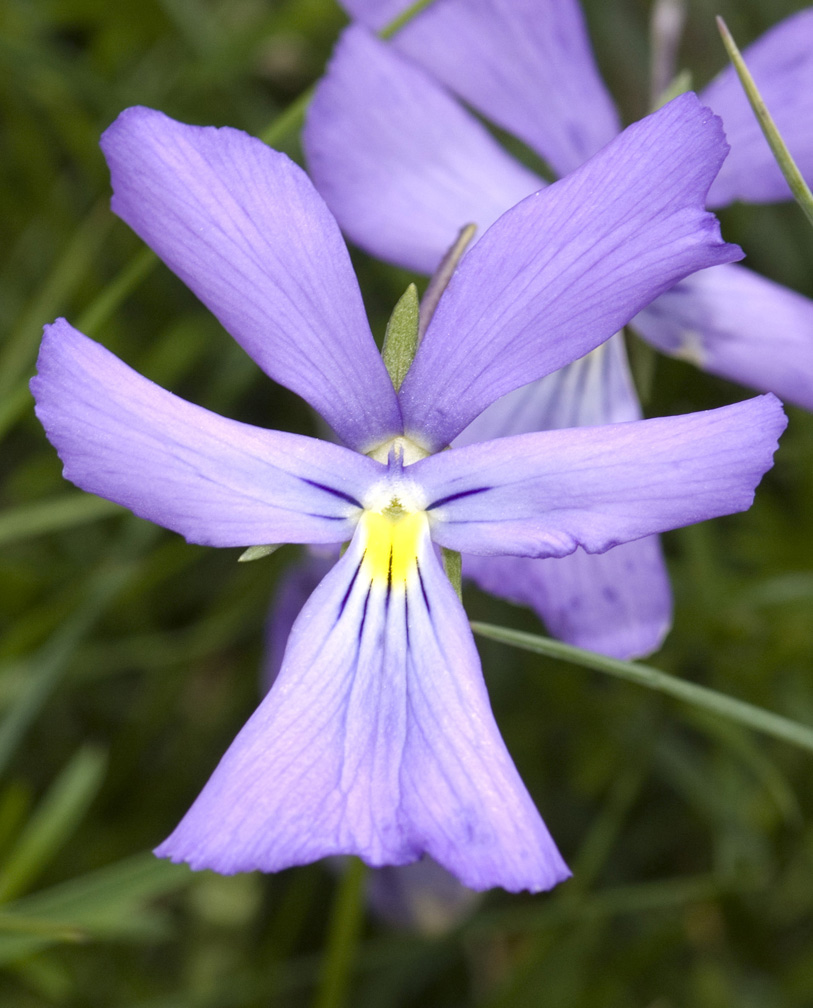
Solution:
M 799 170 L 813 182 L 813 10 L 800 11 L 766 31 L 742 57 Z M 722 117 L 731 145 L 708 194 L 708 205 L 790 200 L 788 183 L 733 67 L 726 67 L 701 98 Z

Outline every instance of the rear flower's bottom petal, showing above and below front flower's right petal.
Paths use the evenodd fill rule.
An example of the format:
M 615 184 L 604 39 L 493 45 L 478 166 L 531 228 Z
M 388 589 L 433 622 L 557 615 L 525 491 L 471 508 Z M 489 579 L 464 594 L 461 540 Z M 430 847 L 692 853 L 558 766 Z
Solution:
M 509 392 L 454 445 L 640 418 L 624 338 L 617 334 L 566 368 Z M 672 593 L 657 536 L 605 553 L 576 549 L 548 559 L 467 554 L 463 574 L 487 592 L 530 606 L 554 637 L 614 658 L 651 654 L 672 621 Z

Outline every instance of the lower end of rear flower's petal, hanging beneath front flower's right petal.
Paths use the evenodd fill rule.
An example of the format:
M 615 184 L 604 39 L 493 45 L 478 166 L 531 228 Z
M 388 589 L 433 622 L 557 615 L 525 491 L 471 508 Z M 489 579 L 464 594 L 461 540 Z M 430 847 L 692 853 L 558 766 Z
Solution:
M 463 557 L 482 589 L 529 606 L 553 637 L 612 658 L 656 651 L 672 622 L 672 592 L 657 535 L 605 553 Z

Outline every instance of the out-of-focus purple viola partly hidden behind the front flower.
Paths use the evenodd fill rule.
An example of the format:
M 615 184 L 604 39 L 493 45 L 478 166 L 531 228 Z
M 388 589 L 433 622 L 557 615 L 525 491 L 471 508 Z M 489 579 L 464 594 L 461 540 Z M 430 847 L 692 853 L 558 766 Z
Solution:
M 376 28 L 406 6 L 405 0 L 344 3 Z M 746 58 L 813 177 L 813 11 L 773 29 Z M 387 44 L 358 26 L 349 29 L 308 112 L 303 142 L 310 173 L 354 242 L 424 273 L 435 269 L 462 225 L 473 222 L 483 234 L 545 185 L 438 82 L 515 133 L 558 174 L 576 168 L 621 128 L 575 0 L 436 0 Z M 710 205 L 787 199 L 731 69 L 700 97 L 722 115 L 732 147 L 712 182 Z M 727 264 L 695 272 L 630 325 L 666 353 L 813 408 L 813 303 L 751 270 Z M 496 403 L 455 444 L 641 415 L 619 335 Z M 671 623 L 669 581 L 655 538 L 598 555 L 579 549 L 563 559 L 466 557 L 463 573 L 487 591 L 531 606 L 554 636 L 615 657 L 652 652 Z

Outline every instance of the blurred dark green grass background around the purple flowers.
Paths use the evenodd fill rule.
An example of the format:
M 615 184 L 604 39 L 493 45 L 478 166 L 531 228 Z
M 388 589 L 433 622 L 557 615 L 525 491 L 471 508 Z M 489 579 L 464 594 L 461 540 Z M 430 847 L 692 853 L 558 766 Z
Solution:
M 638 118 L 649 5 L 586 6 Z M 715 13 L 744 45 L 796 9 L 693 0 L 681 60 L 700 86 L 723 62 Z M 27 380 L 42 324 L 64 314 L 195 402 L 312 432 L 109 213 L 97 141 L 132 104 L 267 132 L 344 23 L 332 0 L 0 0 L 0 1004 L 807 1008 L 811 754 L 492 641 L 498 721 L 575 872 L 553 893 L 490 893 L 443 933 L 366 912 L 358 936 L 333 927 L 345 949 L 325 958 L 349 887 L 324 866 L 221 878 L 148 853 L 257 703 L 268 600 L 297 553 L 237 564 L 65 484 Z M 296 130 L 277 126 L 275 145 L 298 156 Z M 796 207 L 722 218 L 750 265 L 813 295 Z M 410 277 L 355 258 L 381 336 Z M 634 353 L 641 374 L 654 365 L 649 415 L 747 394 Z M 651 660 L 813 725 L 813 417 L 789 413 L 752 511 L 666 536 L 677 615 Z

